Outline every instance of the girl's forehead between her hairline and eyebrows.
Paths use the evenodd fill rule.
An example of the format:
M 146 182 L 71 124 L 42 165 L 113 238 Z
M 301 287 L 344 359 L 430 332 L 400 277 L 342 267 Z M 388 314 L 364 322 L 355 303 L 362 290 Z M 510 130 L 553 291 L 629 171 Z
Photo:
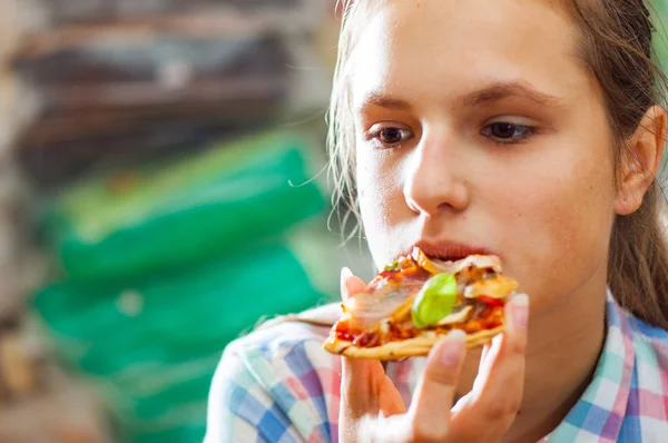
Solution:
M 556 96 L 591 78 L 578 30 L 551 0 L 387 0 L 363 17 L 352 55 L 355 102 L 374 92 L 448 98 L 521 81 Z

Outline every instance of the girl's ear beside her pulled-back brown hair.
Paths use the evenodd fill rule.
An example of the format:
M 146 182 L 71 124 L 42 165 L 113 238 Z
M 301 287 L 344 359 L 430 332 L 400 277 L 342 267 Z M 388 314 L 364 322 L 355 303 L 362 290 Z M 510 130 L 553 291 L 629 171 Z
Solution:
M 619 190 L 615 200 L 618 215 L 629 215 L 656 178 L 666 145 L 666 110 L 654 106 L 642 117 L 621 158 Z

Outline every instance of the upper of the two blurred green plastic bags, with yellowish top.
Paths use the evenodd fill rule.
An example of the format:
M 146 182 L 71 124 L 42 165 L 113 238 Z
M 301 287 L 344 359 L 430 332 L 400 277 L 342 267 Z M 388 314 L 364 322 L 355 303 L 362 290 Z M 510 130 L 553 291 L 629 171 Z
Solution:
M 305 142 L 276 132 L 69 189 L 42 217 L 72 279 L 188 265 L 279 235 L 324 207 Z

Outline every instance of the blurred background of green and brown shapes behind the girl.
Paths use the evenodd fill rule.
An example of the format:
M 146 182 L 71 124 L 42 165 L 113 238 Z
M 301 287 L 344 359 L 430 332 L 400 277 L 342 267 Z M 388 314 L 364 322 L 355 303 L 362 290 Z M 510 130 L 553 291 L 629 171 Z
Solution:
M 337 27 L 334 0 L 0 0 L 0 443 L 200 442 L 229 341 L 371 277 L 324 170 Z

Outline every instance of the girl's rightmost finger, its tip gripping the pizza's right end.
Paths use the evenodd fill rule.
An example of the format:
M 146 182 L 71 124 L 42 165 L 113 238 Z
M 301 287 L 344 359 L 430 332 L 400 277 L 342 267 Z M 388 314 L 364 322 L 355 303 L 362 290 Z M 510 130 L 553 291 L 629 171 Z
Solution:
M 452 417 L 453 435 L 460 440 L 494 441 L 514 421 L 522 402 L 529 298 L 515 296 L 505 306 L 505 332 L 494 337 L 468 402 Z M 480 422 L 485 426 L 480 426 Z M 484 432 L 485 434 L 481 434 Z

